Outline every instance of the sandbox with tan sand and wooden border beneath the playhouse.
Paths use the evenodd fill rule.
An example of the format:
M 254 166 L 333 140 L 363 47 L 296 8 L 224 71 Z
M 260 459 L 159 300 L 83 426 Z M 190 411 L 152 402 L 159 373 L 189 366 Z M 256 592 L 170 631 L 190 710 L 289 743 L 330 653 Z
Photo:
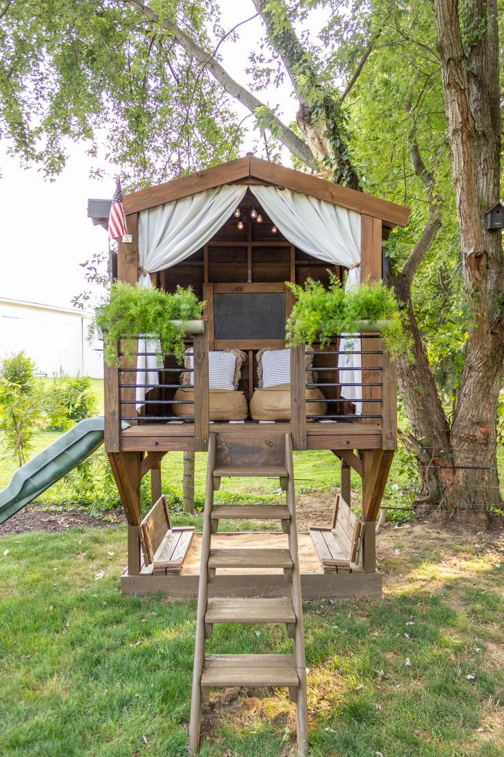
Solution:
M 287 535 L 272 531 L 240 531 L 233 534 L 215 534 L 212 547 L 218 549 L 286 549 Z M 232 545 L 230 547 L 230 544 Z M 366 573 L 351 564 L 351 572 L 324 572 L 322 562 L 310 534 L 298 534 L 301 590 L 304 600 L 319 598 L 381 597 L 382 575 Z M 152 565 L 139 575 L 122 575 L 121 587 L 125 594 L 162 593 L 165 597 L 196 597 L 199 583 L 199 556 L 201 534 L 194 534 L 180 573 L 153 575 Z M 209 584 L 211 597 L 283 597 L 286 580 L 283 569 L 222 568 L 218 569 L 214 583 Z

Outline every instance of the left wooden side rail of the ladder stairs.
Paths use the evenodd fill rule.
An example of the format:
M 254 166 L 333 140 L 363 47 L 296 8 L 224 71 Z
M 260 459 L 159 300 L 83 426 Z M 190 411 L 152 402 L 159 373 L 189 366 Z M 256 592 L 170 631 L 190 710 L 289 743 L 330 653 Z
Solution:
M 215 434 L 209 435 L 209 457 L 206 468 L 205 509 L 203 512 L 203 536 L 201 540 L 201 561 L 199 564 L 198 611 L 196 615 L 196 640 L 194 644 L 193 694 L 191 698 L 189 723 L 189 753 L 194 755 L 199 746 L 201 727 L 201 676 L 205 662 L 205 615 L 208 600 L 208 565 L 210 555 L 211 516 L 214 499 L 213 471 L 215 466 Z

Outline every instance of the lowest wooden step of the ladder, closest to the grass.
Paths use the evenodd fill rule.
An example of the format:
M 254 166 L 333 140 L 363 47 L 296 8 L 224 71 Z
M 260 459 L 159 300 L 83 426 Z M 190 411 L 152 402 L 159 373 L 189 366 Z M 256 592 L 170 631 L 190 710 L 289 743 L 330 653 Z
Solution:
M 293 655 L 206 655 L 202 687 L 298 687 Z

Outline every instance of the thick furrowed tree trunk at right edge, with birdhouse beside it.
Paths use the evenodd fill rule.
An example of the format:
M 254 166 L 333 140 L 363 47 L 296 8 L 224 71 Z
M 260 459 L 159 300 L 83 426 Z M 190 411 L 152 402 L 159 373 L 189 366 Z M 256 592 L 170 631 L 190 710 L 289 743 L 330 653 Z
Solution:
M 500 232 L 485 229 L 499 200 L 500 103 L 496 0 L 465 5 L 468 44 L 457 0 L 435 0 L 444 106 L 460 228 L 462 272 L 472 317 L 451 430 L 450 509 L 500 506 L 496 407 L 504 370 L 504 285 Z

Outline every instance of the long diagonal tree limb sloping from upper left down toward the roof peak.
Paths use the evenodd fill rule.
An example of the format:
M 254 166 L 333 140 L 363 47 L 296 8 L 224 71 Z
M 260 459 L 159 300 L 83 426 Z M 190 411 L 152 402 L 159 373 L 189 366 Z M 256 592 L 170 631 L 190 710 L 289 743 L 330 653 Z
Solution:
M 215 52 L 210 52 L 202 48 L 190 37 L 186 32 L 181 30 L 179 26 L 173 21 L 163 19 L 159 21 L 159 16 L 154 13 L 151 8 L 144 5 L 141 0 L 124 0 L 129 5 L 134 5 L 141 14 L 153 23 L 161 23 L 163 28 L 167 30 L 172 36 L 176 44 L 181 45 L 189 55 L 192 55 L 203 67 L 212 73 L 212 76 L 218 81 L 218 83 L 226 90 L 226 92 L 233 98 L 236 98 L 241 102 L 251 113 L 261 108 L 267 109 L 267 117 L 265 123 L 268 129 L 274 132 L 274 135 L 280 139 L 281 142 L 292 152 L 298 160 L 307 165 L 310 168 L 315 168 L 314 156 L 311 153 L 310 148 L 302 139 L 299 139 L 292 129 L 289 129 L 271 110 L 262 103 L 252 92 L 249 92 L 245 87 L 241 86 L 232 76 L 227 73 L 224 67 L 221 66 L 218 61 L 215 60 Z

